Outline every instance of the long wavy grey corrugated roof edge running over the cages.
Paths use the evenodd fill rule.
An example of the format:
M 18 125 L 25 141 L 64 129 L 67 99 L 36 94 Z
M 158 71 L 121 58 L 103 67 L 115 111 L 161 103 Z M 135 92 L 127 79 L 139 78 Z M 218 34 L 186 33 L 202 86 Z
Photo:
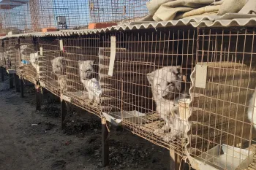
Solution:
M 207 16 L 193 16 L 191 18 L 184 18 L 181 20 L 169 20 L 162 22 L 132 22 L 124 23 L 123 25 L 112 26 L 101 29 L 81 29 L 81 30 L 61 30 L 53 32 L 34 32 L 28 34 L 19 34 L 13 36 L 71 36 L 71 35 L 86 35 L 86 34 L 100 34 L 109 31 L 128 31 L 148 28 L 162 28 L 174 26 L 190 26 L 190 27 L 234 27 L 234 26 L 256 26 L 256 15 L 240 15 L 240 14 L 226 14 L 223 16 L 207 15 Z M 3 36 L 1 36 L 3 37 Z M 2 39 L 0 37 L 0 39 Z M 10 36 L 6 36 L 8 38 Z

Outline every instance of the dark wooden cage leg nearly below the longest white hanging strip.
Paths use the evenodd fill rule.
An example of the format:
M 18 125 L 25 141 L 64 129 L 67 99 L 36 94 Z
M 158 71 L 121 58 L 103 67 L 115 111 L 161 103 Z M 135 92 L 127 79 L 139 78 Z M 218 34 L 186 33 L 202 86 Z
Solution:
M 109 165 L 109 142 L 108 142 L 108 128 L 107 121 L 102 118 L 102 166 Z

